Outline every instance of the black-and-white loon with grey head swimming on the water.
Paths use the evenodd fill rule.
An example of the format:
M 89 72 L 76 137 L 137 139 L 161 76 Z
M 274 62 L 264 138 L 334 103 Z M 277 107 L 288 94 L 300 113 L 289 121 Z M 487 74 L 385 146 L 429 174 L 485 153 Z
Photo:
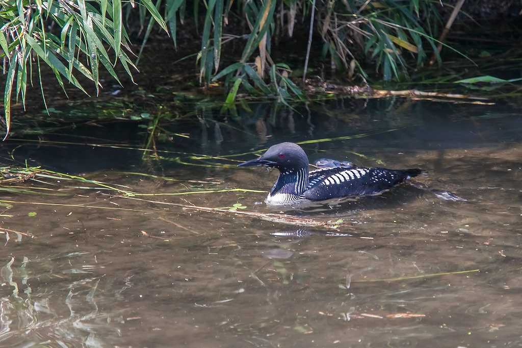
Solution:
M 308 156 L 301 146 L 280 143 L 271 146 L 261 157 L 241 163 L 239 167 L 267 166 L 279 169 L 279 177 L 266 199 L 269 205 L 374 195 L 422 172 L 418 168 L 394 170 L 352 166 L 333 166 L 309 171 L 309 165 Z

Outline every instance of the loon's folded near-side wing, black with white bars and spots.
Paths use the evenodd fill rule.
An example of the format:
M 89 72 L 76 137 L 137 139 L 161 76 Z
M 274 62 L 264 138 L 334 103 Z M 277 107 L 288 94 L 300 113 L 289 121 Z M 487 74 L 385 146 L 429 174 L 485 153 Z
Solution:
M 310 172 L 310 184 L 303 196 L 311 201 L 322 201 L 345 196 L 372 195 L 420 173 L 420 169 L 321 168 Z

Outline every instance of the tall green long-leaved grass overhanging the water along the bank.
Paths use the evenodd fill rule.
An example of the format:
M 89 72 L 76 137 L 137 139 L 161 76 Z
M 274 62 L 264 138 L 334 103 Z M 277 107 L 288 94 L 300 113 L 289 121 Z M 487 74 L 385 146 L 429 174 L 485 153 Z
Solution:
M 409 62 L 421 66 L 427 51 L 436 52 L 440 61 L 434 39 L 441 27 L 438 1 L 325 0 L 315 4 L 298 0 L 0 0 L 6 136 L 11 101 L 21 100 L 25 107 L 27 84 L 38 78 L 41 86 L 43 64 L 52 69 L 65 93 L 64 80 L 87 94 L 79 75 L 90 80 L 98 93 L 100 69 L 119 83 L 114 66 L 121 64 L 132 78 L 137 60 L 128 30 L 144 29 L 140 30 L 139 54 L 154 26 L 168 32 L 177 47 L 177 33 L 188 17 L 201 37 L 196 57 L 200 83 L 222 79 L 229 91 L 225 106 L 234 103 L 240 90 L 283 103 L 305 98 L 290 78 L 290 66 L 271 56 L 276 41 L 293 37 L 295 25 L 314 31 L 313 37 L 323 41 L 322 54 L 331 67 L 346 69 L 350 77 L 356 73 L 367 77 L 362 66 L 373 62 L 385 80 L 405 78 Z M 306 28 L 309 21 L 305 19 L 312 14 L 312 28 Z M 241 26 L 229 30 L 232 20 L 241 21 L 243 32 L 238 32 Z M 242 45 L 242 52 L 224 66 L 223 47 L 232 40 Z M 43 87 L 41 91 L 43 96 Z

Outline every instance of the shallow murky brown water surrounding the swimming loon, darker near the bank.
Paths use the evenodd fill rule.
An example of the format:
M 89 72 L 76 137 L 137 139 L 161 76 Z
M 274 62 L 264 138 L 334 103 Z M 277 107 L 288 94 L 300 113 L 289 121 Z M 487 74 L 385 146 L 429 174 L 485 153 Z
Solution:
M 517 109 L 401 99 L 250 108 L 238 117 L 203 109 L 197 118 L 160 120 L 159 151 L 145 156 L 138 124 L 148 120 L 57 123 L 40 138 L 3 144 L 5 165 L 27 161 L 155 195 L 50 178 L 23 185 L 60 196 L 3 193 L 26 203 L 10 203 L 1 226 L 34 238 L 0 236 L 9 235 L 0 259 L 0 345 L 522 345 Z M 235 203 L 246 206 L 241 212 L 282 212 L 262 203 L 266 193 L 160 195 L 268 191 L 275 172 L 235 164 L 282 141 L 310 141 L 302 146 L 311 160 L 420 167 L 428 172 L 420 182 L 468 202 L 402 186 L 285 210 L 329 222 L 309 227 L 227 212 Z

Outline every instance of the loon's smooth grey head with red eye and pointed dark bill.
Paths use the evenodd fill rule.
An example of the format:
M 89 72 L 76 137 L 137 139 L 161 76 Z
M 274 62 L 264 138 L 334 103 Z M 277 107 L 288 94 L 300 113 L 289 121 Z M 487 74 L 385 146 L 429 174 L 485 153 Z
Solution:
M 267 166 L 283 171 L 308 170 L 308 156 L 301 146 L 294 143 L 280 143 L 270 146 L 263 156 L 246 161 L 240 167 Z

